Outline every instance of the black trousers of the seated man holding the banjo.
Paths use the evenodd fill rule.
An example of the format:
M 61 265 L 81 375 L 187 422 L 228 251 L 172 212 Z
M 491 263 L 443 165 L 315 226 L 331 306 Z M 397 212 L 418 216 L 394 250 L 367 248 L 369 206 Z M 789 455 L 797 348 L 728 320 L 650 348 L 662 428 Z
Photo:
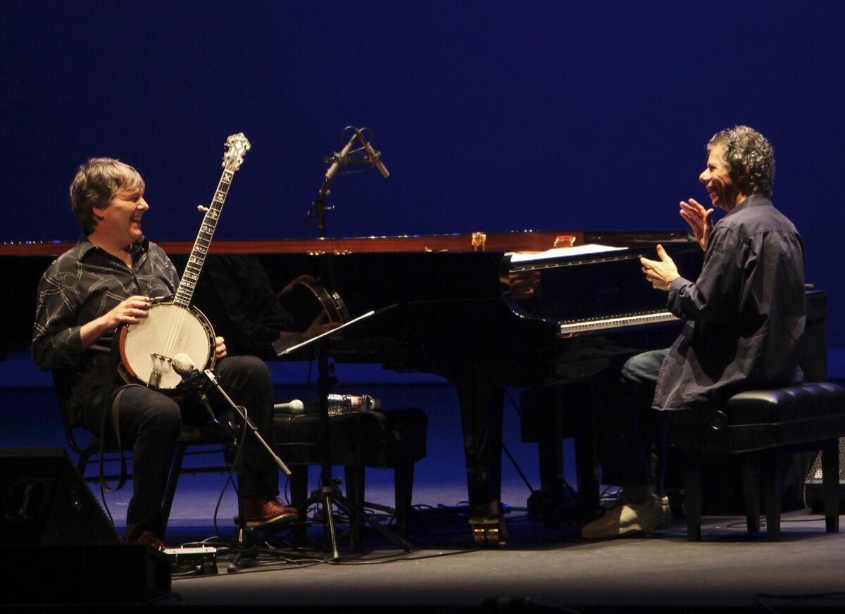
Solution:
M 254 356 L 229 356 L 215 368 L 221 387 L 237 405 L 243 405 L 264 440 L 275 448 L 273 438 L 273 383 L 270 370 Z M 112 399 L 117 389 L 112 390 Z M 215 389 L 208 392 L 215 415 L 230 409 Z M 106 434 L 113 433 L 112 415 L 106 418 Z M 210 416 L 195 399 L 179 402 L 143 386 L 131 386 L 120 399 L 118 422 L 124 448 L 133 453 L 133 496 L 126 513 L 128 537 L 144 530 L 164 532 L 161 503 L 182 424 L 202 424 Z M 237 467 L 241 497 L 275 497 L 279 473 L 275 462 L 252 435 L 244 442 Z

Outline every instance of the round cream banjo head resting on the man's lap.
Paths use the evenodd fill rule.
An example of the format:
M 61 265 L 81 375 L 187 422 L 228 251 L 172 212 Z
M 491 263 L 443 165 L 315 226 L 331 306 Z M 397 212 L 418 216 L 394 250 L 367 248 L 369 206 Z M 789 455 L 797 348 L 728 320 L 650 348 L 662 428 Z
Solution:
M 172 390 L 182 382 L 173 370 L 173 356 L 187 354 L 203 371 L 214 366 L 214 349 L 214 329 L 199 310 L 156 303 L 144 320 L 121 331 L 121 374 L 150 388 Z

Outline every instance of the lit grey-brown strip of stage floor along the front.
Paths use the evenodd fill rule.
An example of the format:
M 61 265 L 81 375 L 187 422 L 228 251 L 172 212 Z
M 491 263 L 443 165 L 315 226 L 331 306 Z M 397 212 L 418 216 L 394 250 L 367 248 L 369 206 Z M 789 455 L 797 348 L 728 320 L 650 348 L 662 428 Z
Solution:
M 636 537 L 581 541 L 577 530 L 546 530 L 512 513 L 508 545 L 499 550 L 475 549 L 466 525 L 446 516 L 442 526 L 415 530 L 415 549 L 407 554 L 368 533 L 365 552 L 341 562 L 262 558 L 262 567 L 227 573 L 221 557 L 217 575 L 174 579 L 174 595 L 164 602 L 200 610 L 709 611 L 758 609 L 759 603 L 777 610 L 788 603 L 833 608 L 845 598 L 845 592 L 798 603 L 788 597 L 845 591 L 845 534 L 826 534 L 820 515 L 785 513 L 776 543 L 766 541 L 765 531 L 749 535 L 744 519 L 708 517 L 704 541 L 690 543 L 679 520 Z M 172 536 L 180 530 L 174 527 Z M 319 527 L 311 535 L 314 530 L 321 535 Z M 194 528 L 184 535 L 198 534 Z M 515 610 L 511 603 L 508 609 L 502 600 L 509 599 L 530 599 L 534 606 Z M 472 607 L 484 600 L 499 600 L 498 606 Z

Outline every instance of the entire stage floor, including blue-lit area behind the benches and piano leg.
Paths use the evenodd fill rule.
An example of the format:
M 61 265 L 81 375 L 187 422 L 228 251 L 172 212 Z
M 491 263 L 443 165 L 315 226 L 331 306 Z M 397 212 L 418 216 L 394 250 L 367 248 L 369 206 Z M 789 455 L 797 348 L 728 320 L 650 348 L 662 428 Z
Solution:
M 845 534 L 826 534 L 820 515 L 783 515 L 782 541 L 769 543 L 765 531 L 748 535 L 740 517 L 707 517 L 704 541 L 686 541 L 683 521 L 668 530 L 612 541 L 581 541 L 577 529 L 547 530 L 530 522 L 522 511 L 529 488 L 510 463 L 503 465 L 502 500 L 510 503 L 509 540 L 501 550 L 477 550 L 466 517 L 455 507 L 466 499 L 466 474 L 461 447 L 460 416 L 454 391 L 446 386 L 384 386 L 362 388 L 385 405 L 418 405 L 429 416 L 428 457 L 417 463 L 414 503 L 423 510 L 412 530 L 414 550 L 390 549 L 370 530 L 364 554 L 340 563 L 270 564 L 226 573 L 172 581 L 172 595 L 156 606 L 205 611 L 282 612 L 450 612 L 450 611 L 760 611 L 755 598 L 774 610 L 815 606 L 839 610 L 845 597 Z M 292 395 L 290 395 L 292 396 Z M 3 446 L 63 446 L 51 389 L 2 389 L 6 408 L 0 444 Z M 510 407 L 504 414 L 504 438 L 525 470 L 538 484 L 536 444 L 521 443 L 519 421 Z M 565 446 L 566 476 L 574 481 L 574 462 Z M 313 480 L 316 483 L 316 470 Z M 174 501 L 166 535 L 169 546 L 214 535 L 211 519 L 225 483 L 223 475 L 185 475 Z M 280 486 L 284 488 L 284 481 Z M 96 486 L 94 487 L 96 492 Z M 97 493 L 99 494 L 99 493 Z M 115 523 L 123 532 L 131 488 L 106 497 Z M 369 470 L 367 499 L 391 504 L 392 472 Z M 441 504 L 449 507 L 439 507 Z M 235 498 L 230 488 L 218 519 L 231 533 Z M 425 510 L 434 509 L 435 511 Z M 845 527 L 845 524 L 843 524 Z M 319 526 L 309 535 L 322 536 Z M 346 547 L 346 546 L 344 546 Z M 323 556 L 314 550 L 313 556 Z M 46 573 L 61 573 L 49 568 Z M 45 573 L 34 570 L 33 573 Z M 94 587 L 95 588 L 95 587 Z M 93 590 L 93 589 L 92 589 Z M 760 595 L 821 595 L 822 600 L 793 600 Z M 515 600 L 510 606 L 504 601 Z M 521 600 L 533 607 L 518 607 Z M 479 609 L 482 600 L 502 600 Z M 0 599 L 0 610 L 3 609 Z M 73 606 L 74 611 L 138 611 L 137 606 Z M 36 606 L 32 611 L 67 609 Z M 563 610 L 569 608 L 569 610 Z M 765 608 L 762 608 L 765 610 Z

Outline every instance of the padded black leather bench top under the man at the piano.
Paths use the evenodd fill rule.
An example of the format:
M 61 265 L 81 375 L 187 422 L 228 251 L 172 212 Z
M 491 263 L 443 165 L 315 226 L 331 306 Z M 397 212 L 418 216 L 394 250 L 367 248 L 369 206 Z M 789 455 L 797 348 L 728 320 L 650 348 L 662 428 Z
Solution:
M 845 389 L 803 383 L 735 394 L 717 408 L 670 412 L 669 441 L 701 454 L 742 454 L 845 436 Z

